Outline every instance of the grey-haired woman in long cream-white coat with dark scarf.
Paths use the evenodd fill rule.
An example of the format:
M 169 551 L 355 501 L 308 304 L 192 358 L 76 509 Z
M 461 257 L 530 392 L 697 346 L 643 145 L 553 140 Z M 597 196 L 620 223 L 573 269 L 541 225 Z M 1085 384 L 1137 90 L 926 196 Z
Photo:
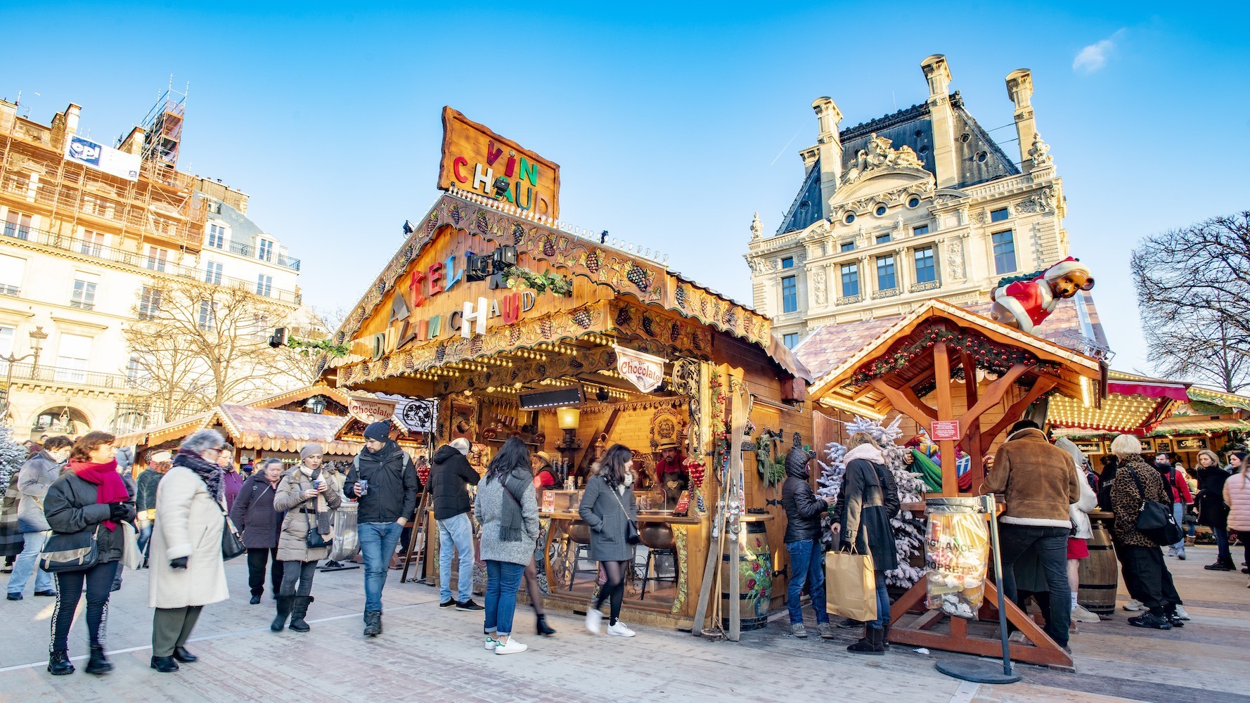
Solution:
M 200 610 L 230 597 L 221 560 L 224 445 L 211 429 L 188 437 L 156 488 L 148 605 L 156 608 L 151 668 L 161 673 L 196 659 L 185 645 Z

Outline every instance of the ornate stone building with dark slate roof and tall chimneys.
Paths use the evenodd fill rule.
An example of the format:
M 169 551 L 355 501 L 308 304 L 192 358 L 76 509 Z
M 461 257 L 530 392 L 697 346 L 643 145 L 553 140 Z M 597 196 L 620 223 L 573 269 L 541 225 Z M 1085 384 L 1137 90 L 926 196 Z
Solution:
M 875 120 L 839 129 L 838 105 L 812 103 L 819 133 L 800 151 L 799 195 L 772 236 L 758 215 L 751 223 L 755 308 L 788 346 L 929 298 L 971 306 L 1002 276 L 1068 256 L 1062 181 L 1034 120 L 1029 70 L 1006 76 L 1019 138 L 1009 155 L 950 93 L 945 56 L 920 68 L 929 99 Z

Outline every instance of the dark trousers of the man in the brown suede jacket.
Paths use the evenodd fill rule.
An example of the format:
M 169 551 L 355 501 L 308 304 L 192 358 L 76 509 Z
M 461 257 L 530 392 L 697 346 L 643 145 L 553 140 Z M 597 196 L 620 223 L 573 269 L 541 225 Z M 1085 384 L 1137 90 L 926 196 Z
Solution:
M 1068 644 L 1068 628 L 1072 624 L 1072 587 L 1068 583 L 1068 530 L 1069 528 L 1060 527 L 999 523 L 1002 595 L 1020 605 L 1015 587 L 1015 563 L 1025 552 L 1035 549 L 1050 592 L 1046 634 L 1060 647 Z

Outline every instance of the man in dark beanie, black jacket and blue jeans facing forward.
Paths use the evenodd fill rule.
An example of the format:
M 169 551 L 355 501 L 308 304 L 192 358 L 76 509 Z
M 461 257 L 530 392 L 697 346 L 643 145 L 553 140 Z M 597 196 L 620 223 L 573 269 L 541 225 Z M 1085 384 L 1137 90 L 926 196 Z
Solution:
M 382 632 L 382 587 L 399 535 L 416 510 L 421 483 L 408 453 L 390 438 L 390 423 L 365 428 L 365 448 L 356 455 L 342 493 L 355 499 L 356 533 L 365 558 L 365 635 Z

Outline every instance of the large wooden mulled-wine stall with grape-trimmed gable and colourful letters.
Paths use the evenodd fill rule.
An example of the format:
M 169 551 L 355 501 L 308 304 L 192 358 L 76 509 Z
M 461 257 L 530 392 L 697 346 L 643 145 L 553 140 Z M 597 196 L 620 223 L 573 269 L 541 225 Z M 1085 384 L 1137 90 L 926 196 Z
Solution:
M 540 497 L 540 572 L 548 598 L 569 607 L 584 607 L 594 589 L 576 509 L 606 447 L 632 449 L 642 474 L 644 545 L 626 590 L 634 622 L 691 625 L 710 583 L 705 567 L 720 563 L 709 552 L 719 548 L 711 527 L 721 478 L 738 477 L 742 562 L 721 582 L 726 593 L 742 590 L 744 629 L 762 625 L 785 598 L 785 525 L 775 474 L 756 470 L 755 439 L 781 437 L 780 452 L 811 443 L 810 377 L 769 320 L 658 256 L 464 190 L 442 195 L 412 229 L 338 331 L 350 353 L 324 380 L 436 400 L 430 450 L 468 438 L 479 470 L 511 437 L 545 452 L 568 485 Z M 708 464 L 680 508 L 652 488 L 656 455 L 670 443 Z

